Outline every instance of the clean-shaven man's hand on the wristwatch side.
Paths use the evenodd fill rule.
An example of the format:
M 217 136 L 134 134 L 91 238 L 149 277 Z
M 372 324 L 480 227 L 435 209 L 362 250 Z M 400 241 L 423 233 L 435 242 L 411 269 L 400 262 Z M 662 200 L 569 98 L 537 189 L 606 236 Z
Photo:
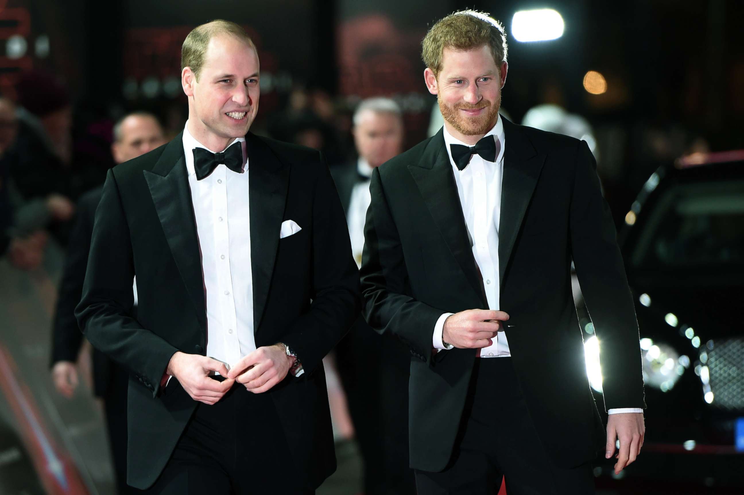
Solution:
M 260 394 L 284 380 L 295 358 L 287 356 L 283 344 L 260 347 L 243 357 L 230 370 L 228 377 L 243 383 L 250 392 Z

